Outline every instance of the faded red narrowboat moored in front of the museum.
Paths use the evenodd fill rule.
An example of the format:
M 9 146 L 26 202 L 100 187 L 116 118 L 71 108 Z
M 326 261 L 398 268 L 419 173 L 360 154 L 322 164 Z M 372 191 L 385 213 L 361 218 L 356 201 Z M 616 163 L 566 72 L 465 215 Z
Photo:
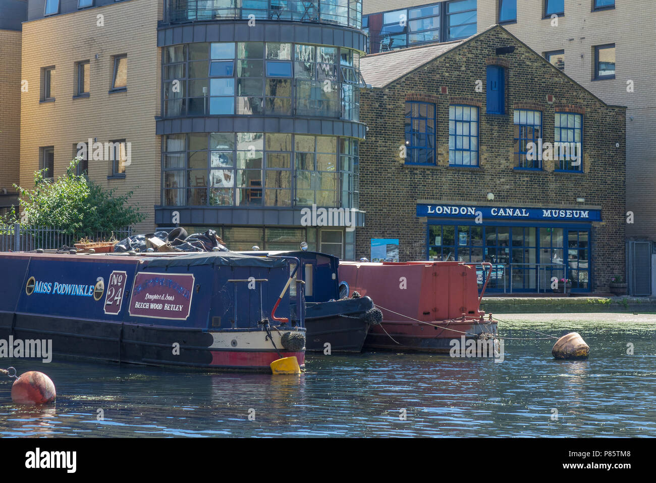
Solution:
M 462 262 L 339 265 L 340 281 L 382 310 L 384 321 L 371 327 L 364 349 L 406 352 L 449 353 L 453 340 L 496 336 L 497 323 L 480 310 L 487 271 L 479 296 L 476 267 Z

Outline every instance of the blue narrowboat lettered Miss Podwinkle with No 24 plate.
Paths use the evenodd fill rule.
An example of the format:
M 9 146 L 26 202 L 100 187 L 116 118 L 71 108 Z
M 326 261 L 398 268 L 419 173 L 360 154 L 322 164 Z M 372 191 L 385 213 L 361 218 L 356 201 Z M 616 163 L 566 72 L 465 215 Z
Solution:
M 285 292 L 298 263 L 235 252 L 3 252 L 0 338 L 146 365 L 271 371 L 295 357 L 302 368 L 304 310 L 292 313 Z

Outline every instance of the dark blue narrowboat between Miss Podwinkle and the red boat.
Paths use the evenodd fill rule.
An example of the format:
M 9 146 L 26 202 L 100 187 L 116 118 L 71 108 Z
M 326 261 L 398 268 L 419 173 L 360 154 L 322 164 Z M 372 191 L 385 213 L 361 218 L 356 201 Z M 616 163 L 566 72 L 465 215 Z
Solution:
M 302 246 L 306 246 L 302 244 Z M 241 252 L 256 256 L 288 256 L 300 267 L 291 286 L 293 309 L 304 299 L 306 350 L 325 354 L 361 352 L 371 327 L 382 313 L 368 296 L 340 294 L 337 280 L 339 258 L 310 250 Z M 295 263 L 291 269 L 296 268 Z M 298 287 L 297 287 L 298 286 Z

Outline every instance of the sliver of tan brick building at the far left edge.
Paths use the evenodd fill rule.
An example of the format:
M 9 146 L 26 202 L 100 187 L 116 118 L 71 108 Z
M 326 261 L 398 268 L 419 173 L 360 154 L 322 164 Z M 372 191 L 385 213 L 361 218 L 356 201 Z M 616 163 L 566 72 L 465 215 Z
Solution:
M 0 0 L 0 216 L 16 206 L 20 160 L 21 22 L 27 0 Z

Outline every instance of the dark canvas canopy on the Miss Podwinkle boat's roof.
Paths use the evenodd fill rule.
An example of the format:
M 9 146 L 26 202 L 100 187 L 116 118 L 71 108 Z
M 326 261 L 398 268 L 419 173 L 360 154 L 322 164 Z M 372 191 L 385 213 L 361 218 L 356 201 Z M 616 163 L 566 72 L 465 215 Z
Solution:
M 202 252 L 176 257 L 161 257 L 148 260 L 148 267 L 195 267 L 198 265 L 226 267 L 285 267 L 283 258 L 266 258 L 244 255 L 237 252 Z

